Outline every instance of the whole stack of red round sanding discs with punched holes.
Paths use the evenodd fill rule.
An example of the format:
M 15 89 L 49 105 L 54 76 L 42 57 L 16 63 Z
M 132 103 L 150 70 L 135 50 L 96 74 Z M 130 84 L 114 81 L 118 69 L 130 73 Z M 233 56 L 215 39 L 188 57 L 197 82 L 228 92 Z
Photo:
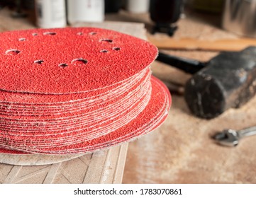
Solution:
M 87 153 L 151 132 L 171 105 L 155 57 L 113 30 L 1 33 L 0 153 Z

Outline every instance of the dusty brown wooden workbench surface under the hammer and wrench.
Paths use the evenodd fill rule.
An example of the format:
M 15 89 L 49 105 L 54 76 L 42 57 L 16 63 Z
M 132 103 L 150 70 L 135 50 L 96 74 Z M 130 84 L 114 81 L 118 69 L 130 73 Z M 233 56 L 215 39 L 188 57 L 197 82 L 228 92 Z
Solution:
M 1 30 L 8 29 L 1 20 L 0 15 Z M 106 20 L 143 22 L 147 28 L 152 25 L 148 15 L 130 15 L 124 11 L 108 15 Z M 179 20 L 174 39 L 238 38 L 222 30 L 218 23 L 219 16 L 189 12 Z M 19 19 L 12 25 L 34 28 Z M 157 33 L 154 37 L 161 39 L 167 35 Z M 165 52 L 200 61 L 218 54 L 206 50 Z M 129 144 L 123 183 L 256 183 L 256 136 L 244 139 L 235 148 L 219 146 L 211 139 L 223 129 L 256 126 L 256 97 L 239 109 L 230 109 L 215 119 L 203 120 L 191 115 L 182 95 L 182 86 L 190 75 L 159 62 L 152 64 L 152 71 L 158 78 L 175 85 L 177 90 L 172 92 L 172 107 L 165 123 L 155 132 Z

